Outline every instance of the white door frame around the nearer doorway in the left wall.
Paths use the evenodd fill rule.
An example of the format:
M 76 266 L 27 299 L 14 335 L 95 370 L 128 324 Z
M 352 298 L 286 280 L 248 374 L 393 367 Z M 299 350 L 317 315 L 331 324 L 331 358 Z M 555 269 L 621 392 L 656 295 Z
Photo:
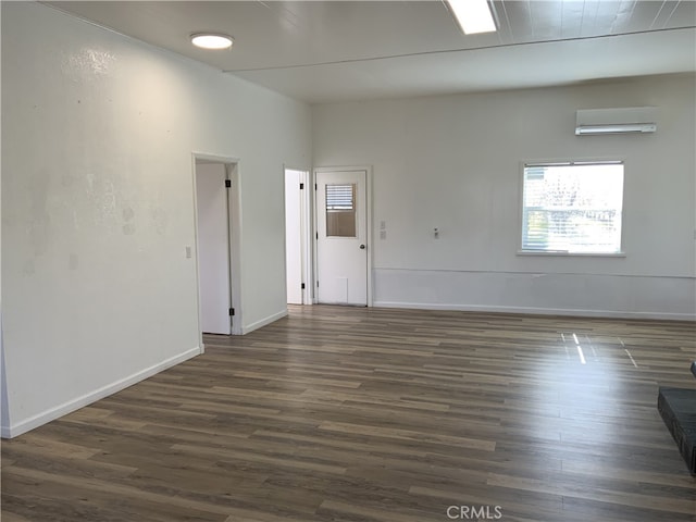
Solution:
M 225 179 L 229 181 L 227 189 L 227 234 L 229 251 L 227 253 L 229 270 L 229 302 L 235 314 L 232 318 L 231 334 L 241 335 L 243 315 L 241 308 L 241 195 L 239 183 L 239 159 L 227 156 L 210 154 L 204 152 L 191 152 L 191 182 L 194 184 L 194 235 L 196 241 L 195 261 L 196 261 L 196 309 L 198 314 L 198 333 L 201 346 L 201 352 L 204 351 L 203 334 L 201 331 L 201 288 L 200 288 L 200 262 L 199 252 L 199 234 L 198 234 L 198 195 L 196 190 L 196 161 L 210 161 L 225 165 Z M 224 187 L 223 187 L 224 188 Z

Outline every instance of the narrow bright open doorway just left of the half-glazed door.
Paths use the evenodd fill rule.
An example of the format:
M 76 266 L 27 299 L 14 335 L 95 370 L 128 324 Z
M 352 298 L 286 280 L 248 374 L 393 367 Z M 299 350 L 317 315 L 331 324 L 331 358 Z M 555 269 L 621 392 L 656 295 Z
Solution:
M 311 304 L 309 172 L 285 169 L 285 268 L 288 304 Z M 307 188 L 306 188 L 307 187 Z

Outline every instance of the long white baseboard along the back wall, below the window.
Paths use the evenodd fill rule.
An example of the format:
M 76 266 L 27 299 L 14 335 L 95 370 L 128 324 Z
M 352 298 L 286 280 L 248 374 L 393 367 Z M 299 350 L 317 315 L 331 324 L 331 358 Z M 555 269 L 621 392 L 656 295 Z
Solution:
M 530 315 L 575 315 L 581 318 L 652 319 L 667 321 L 696 321 L 688 313 L 629 312 L 623 310 L 582 310 L 572 308 L 498 307 L 478 304 L 434 304 L 426 302 L 374 301 L 377 308 L 408 308 L 414 310 L 450 310 L 461 312 L 524 313 Z

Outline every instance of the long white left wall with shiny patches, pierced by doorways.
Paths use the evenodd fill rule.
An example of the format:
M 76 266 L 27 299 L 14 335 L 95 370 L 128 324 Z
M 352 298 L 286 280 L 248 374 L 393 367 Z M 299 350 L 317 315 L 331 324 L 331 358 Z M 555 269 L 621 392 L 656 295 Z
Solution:
M 245 330 L 282 316 L 283 164 L 309 107 L 2 3 L 2 435 L 199 352 L 194 151 L 239 158 Z

